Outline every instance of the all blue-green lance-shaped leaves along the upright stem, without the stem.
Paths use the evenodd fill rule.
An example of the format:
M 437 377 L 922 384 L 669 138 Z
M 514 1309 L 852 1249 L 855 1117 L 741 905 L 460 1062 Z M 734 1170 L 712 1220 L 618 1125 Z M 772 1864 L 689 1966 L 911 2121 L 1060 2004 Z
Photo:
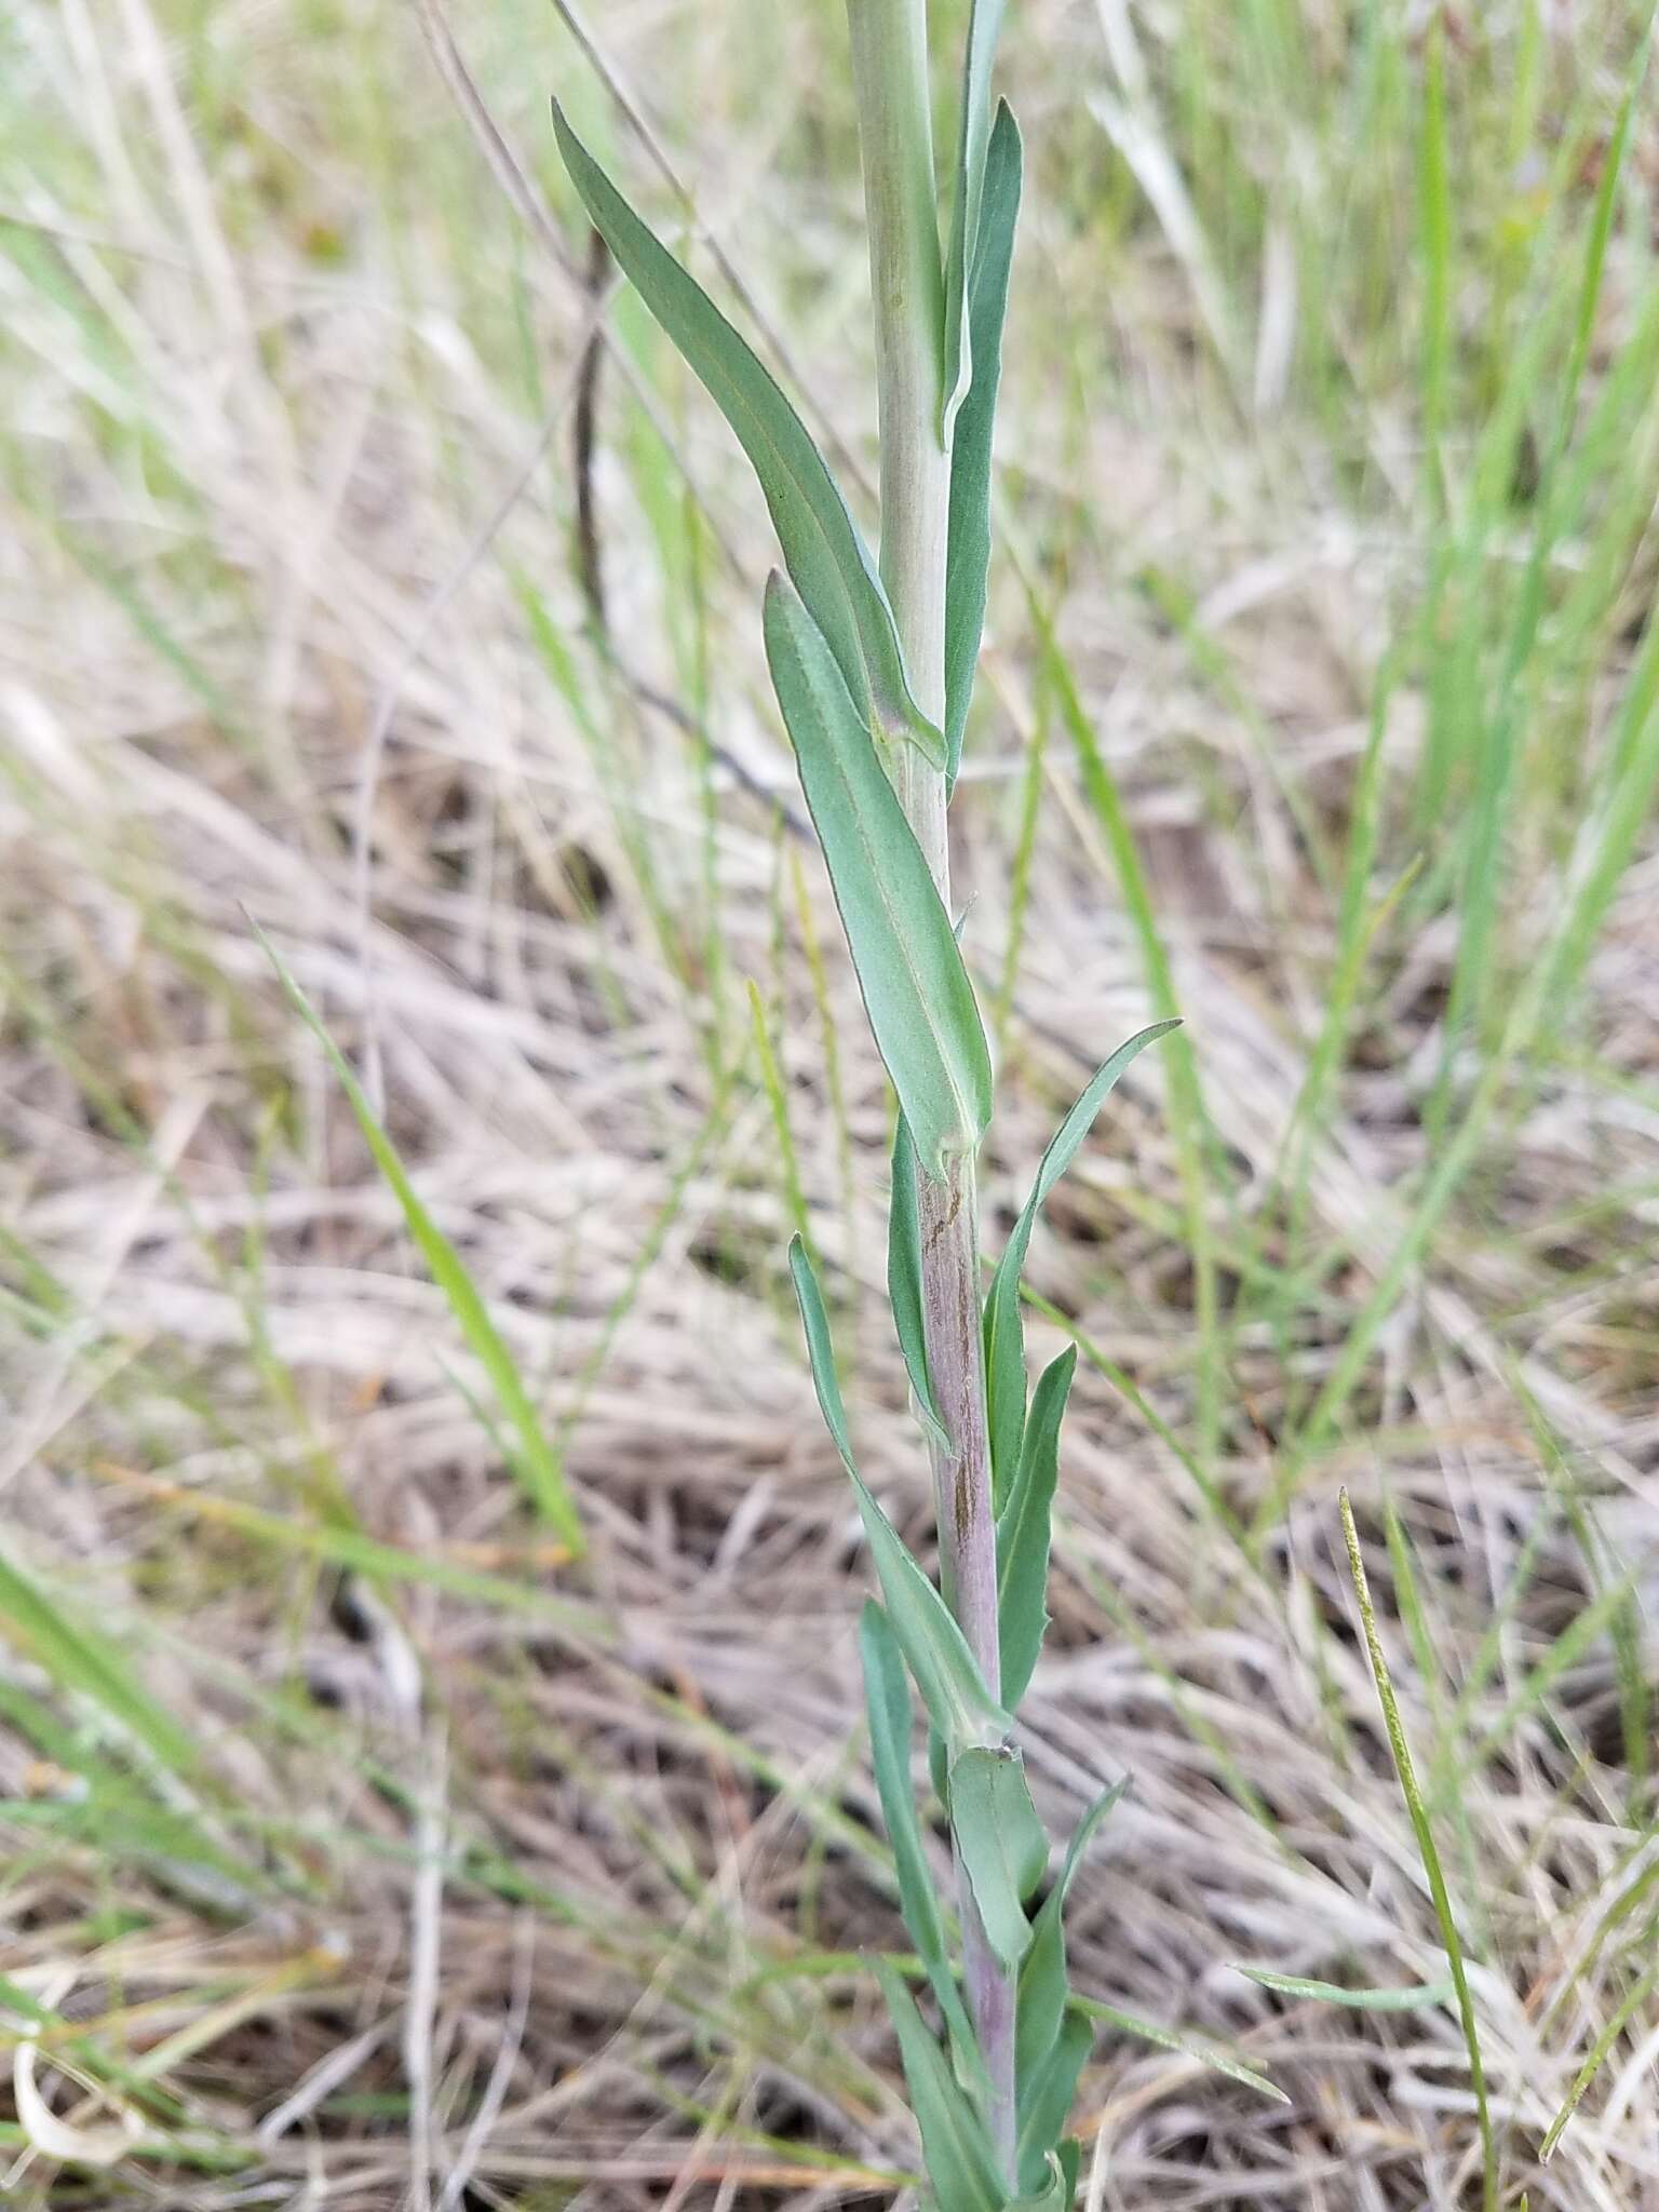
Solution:
M 1006 104 L 991 108 L 1002 7 L 978 4 L 962 69 L 962 115 L 945 314 L 938 330 L 938 436 L 949 453 L 945 728 L 916 703 L 900 633 L 847 500 L 774 376 L 686 268 L 653 237 L 553 111 L 560 153 L 593 219 L 664 332 L 717 400 L 761 480 L 783 551 L 765 591 L 765 653 L 794 745 L 812 823 L 898 1115 L 889 1217 L 889 1296 L 918 1418 L 942 1436 L 922 1316 L 916 1168 L 942 1179 L 973 1155 L 991 1121 L 991 1055 L 958 927 L 896 790 L 896 748 L 914 745 L 947 790 L 962 757 L 991 557 L 991 438 L 1020 212 L 1022 148 Z M 1117 1798 L 1086 1814 L 1046 1898 L 1048 1836 L 1011 1743 L 1020 1699 L 1048 1626 L 1048 1528 L 1060 1425 L 1075 1367 L 1064 1352 L 1026 1394 L 1020 1270 L 1037 1212 L 1137 1053 L 1170 1031 L 1157 1022 L 1099 1068 L 1042 1159 L 1031 1199 L 982 1303 L 1000 1683 L 993 1690 L 947 1597 L 872 1495 L 852 1449 L 823 1292 L 803 1241 L 790 1248 L 812 1376 L 858 1500 L 880 1584 L 863 1617 L 869 1734 L 894 1845 L 905 1924 L 940 2015 L 936 2035 L 896 1966 L 878 1966 L 898 2033 L 933 2194 L 942 2212 L 1062 2212 L 1077 2188 L 1079 2146 L 1064 2135 L 1091 2017 L 1066 1984 L 1064 1902 L 1077 1863 Z M 956 1911 L 940 1896 L 911 1783 L 914 1701 L 929 1730 L 929 1770 L 949 1814 L 960 1905 L 1013 1991 L 1013 2146 L 953 1951 Z M 1000 2135 L 1004 2139 L 1000 2139 Z M 1009 2154 L 1011 2148 L 1011 2154 Z

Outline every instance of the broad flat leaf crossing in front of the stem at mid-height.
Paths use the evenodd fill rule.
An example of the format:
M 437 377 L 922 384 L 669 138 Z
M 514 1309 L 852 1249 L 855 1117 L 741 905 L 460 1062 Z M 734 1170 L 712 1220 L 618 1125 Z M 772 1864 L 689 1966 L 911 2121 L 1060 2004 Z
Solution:
M 991 1053 L 951 918 L 823 633 L 783 577 L 765 653 L 876 1046 L 940 1181 L 991 1119 Z

